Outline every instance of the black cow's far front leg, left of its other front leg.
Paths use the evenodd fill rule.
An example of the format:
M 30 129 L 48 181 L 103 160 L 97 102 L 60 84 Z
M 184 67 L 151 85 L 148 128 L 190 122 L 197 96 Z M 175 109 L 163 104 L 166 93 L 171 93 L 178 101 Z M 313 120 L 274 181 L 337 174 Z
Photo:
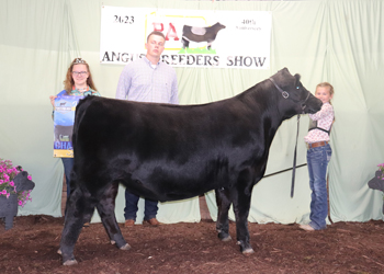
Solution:
M 230 207 L 229 191 L 226 189 L 216 190 L 216 204 L 217 204 L 217 221 L 216 230 L 218 238 L 222 241 L 229 241 L 229 220 L 228 210 Z

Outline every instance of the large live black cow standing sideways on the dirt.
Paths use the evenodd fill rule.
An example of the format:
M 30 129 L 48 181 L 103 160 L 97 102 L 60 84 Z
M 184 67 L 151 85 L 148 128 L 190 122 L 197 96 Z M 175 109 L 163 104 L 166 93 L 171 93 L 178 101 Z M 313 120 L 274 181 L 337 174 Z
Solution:
M 264 174 L 273 136 L 284 119 L 320 107 L 286 68 L 231 99 L 202 105 L 81 100 L 74 127 L 74 190 L 59 248 L 64 264 L 76 263 L 75 243 L 94 207 L 111 242 L 129 249 L 114 215 L 118 183 L 161 202 L 215 190 L 218 237 L 230 239 L 233 204 L 240 250 L 252 253 L 251 192 Z

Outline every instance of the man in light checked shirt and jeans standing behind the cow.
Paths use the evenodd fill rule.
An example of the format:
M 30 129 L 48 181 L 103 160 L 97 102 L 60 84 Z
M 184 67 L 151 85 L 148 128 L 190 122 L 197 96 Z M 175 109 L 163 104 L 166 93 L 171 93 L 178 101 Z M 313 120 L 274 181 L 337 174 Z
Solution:
M 172 67 L 160 61 L 166 37 L 161 32 L 151 32 L 145 44 L 145 57 L 126 65 L 120 76 L 116 99 L 138 102 L 179 104 L 178 80 Z M 136 221 L 139 196 L 125 191 L 125 227 Z M 157 201 L 145 199 L 144 225 L 158 226 Z

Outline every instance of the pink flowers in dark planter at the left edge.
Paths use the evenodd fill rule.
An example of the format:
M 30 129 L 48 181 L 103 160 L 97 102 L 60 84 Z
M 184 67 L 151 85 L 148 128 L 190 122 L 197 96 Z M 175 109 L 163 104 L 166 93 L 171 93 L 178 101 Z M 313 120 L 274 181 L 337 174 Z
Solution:
M 18 206 L 31 201 L 35 183 L 21 167 L 12 167 L 12 161 L 0 159 L 0 218 L 5 218 L 5 230 L 12 228 Z

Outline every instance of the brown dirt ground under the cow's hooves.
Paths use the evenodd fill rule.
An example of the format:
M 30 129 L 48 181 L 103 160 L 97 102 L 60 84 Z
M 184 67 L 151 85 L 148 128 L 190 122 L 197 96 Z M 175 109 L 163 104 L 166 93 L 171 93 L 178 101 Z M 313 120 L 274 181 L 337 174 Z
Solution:
M 250 222 L 255 254 L 236 241 L 218 240 L 215 224 L 136 225 L 122 232 L 128 251 L 109 242 L 102 224 L 83 228 L 75 248 L 78 264 L 56 253 L 64 218 L 19 216 L 4 230 L 0 219 L 0 273 L 384 273 L 384 222 L 336 222 L 307 232 L 298 225 Z M 230 235 L 236 239 L 235 224 Z

